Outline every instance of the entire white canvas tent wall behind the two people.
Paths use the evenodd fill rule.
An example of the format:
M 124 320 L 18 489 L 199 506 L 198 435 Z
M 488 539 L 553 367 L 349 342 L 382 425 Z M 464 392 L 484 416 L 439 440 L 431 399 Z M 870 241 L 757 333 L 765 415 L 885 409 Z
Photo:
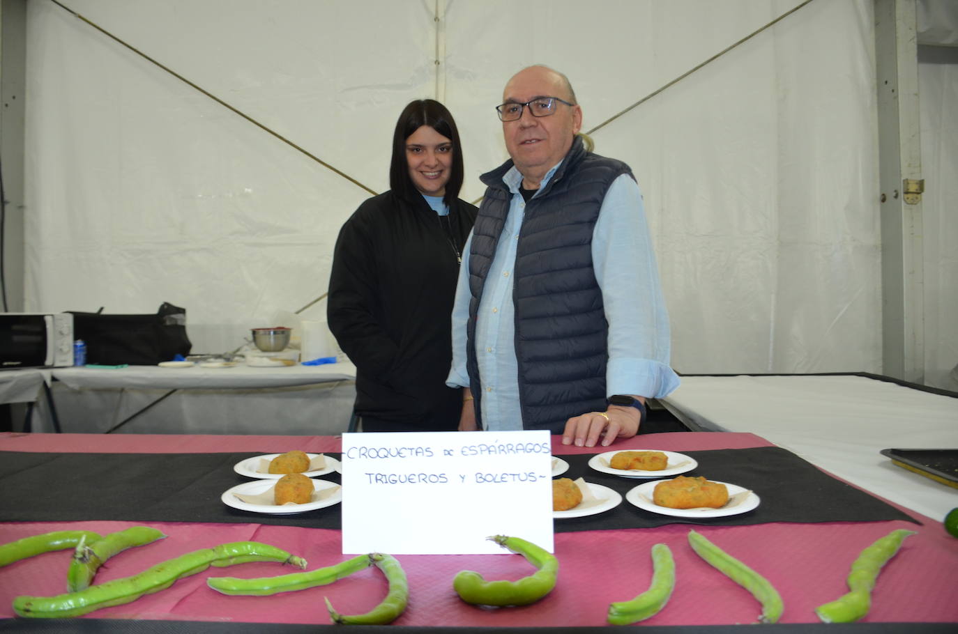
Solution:
M 589 129 L 800 3 L 66 4 L 376 192 L 399 110 L 439 98 L 473 200 L 522 66 L 565 72 Z M 225 351 L 325 292 L 369 192 L 53 3 L 28 10 L 28 309 L 168 301 L 194 351 Z M 678 371 L 881 371 L 873 22 L 871 0 L 812 2 L 595 133 L 645 192 Z

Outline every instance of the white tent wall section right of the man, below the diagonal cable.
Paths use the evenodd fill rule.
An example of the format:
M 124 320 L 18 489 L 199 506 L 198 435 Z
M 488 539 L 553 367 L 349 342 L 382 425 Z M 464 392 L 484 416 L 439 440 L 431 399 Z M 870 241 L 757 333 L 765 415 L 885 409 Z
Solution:
M 880 369 L 869 8 L 812 3 L 597 133 L 646 191 L 678 370 Z

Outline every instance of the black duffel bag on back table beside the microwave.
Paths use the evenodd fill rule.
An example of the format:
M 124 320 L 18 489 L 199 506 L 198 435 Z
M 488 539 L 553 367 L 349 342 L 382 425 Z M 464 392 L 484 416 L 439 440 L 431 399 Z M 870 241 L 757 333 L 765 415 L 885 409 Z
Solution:
M 73 313 L 74 338 L 86 343 L 86 362 L 104 366 L 155 366 L 186 356 L 186 308 L 163 303 L 155 315 Z

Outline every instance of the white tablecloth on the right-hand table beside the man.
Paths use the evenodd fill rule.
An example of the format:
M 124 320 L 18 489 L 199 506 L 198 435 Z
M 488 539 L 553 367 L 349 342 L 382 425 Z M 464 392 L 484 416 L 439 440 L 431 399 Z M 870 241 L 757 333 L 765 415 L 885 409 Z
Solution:
M 958 448 L 958 398 L 854 375 L 683 376 L 663 404 L 712 431 L 751 432 L 908 509 L 943 519 L 958 488 L 881 449 Z M 707 474 L 705 474 L 707 475 Z

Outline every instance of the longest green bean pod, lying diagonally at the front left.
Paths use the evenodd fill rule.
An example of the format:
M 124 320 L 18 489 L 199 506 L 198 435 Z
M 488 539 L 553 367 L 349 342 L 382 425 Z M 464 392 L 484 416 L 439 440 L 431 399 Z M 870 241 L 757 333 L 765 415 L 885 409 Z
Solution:
M 144 595 L 169 588 L 182 577 L 189 577 L 213 566 L 229 566 L 247 561 L 280 561 L 306 568 L 306 560 L 255 541 L 230 542 L 216 548 L 204 548 L 156 564 L 133 575 L 91 585 L 79 592 L 57 597 L 22 596 L 13 600 L 13 611 L 21 617 L 41 619 L 79 617 L 111 605 L 122 605 Z

